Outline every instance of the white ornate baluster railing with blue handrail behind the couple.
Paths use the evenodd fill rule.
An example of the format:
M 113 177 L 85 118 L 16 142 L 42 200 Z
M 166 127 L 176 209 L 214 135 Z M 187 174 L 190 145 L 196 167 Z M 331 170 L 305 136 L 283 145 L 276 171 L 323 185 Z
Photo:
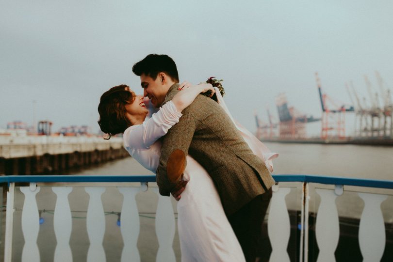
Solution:
M 336 200 L 343 195 L 344 185 L 349 186 L 350 189 L 355 188 L 355 191 L 363 191 L 357 193 L 364 204 L 361 216 L 358 217 L 360 220 L 358 239 L 363 261 L 381 260 L 386 243 L 388 243 L 385 223 L 393 223 L 393 198 L 391 196 L 393 181 L 309 175 L 275 175 L 274 178 L 278 184 L 273 186 L 273 197 L 267 216 L 267 230 L 272 249 L 269 261 L 286 262 L 295 260 L 308 262 L 309 258 L 312 257 L 309 255 L 310 229 L 315 230 L 315 239 L 319 247 L 319 253 L 311 260 L 335 261 L 335 251 L 340 238 L 340 214 L 338 213 Z M 174 262 L 177 259 L 179 260 L 179 248 L 174 247 L 176 245 L 173 244 L 176 239 L 177 228 L 176 208 L 173 208 L 176 201 L 172 198 L 160 196 L 155 183 L 152 183 L 154 181 L 154 176 L 0 177 L 0 183 L 7 183 L 8 185 L 4 261 L 113 261 L 115 259 L 112 259 L 111 255 L 108 254 L 108 249 L 112 250 L 114 248 L 120 250 L 115 254 L 117 261 L 141 261 L 141 257 L 145 255 L 141 252 L 145 252 L 144 250 L 149 248 L 138 244 L 141 233 L 144 236 L 146 235 L 145 232 L 141 232 L 142 228 L 145 228 L 145 225 L 141 224 L 141 214 L 144 214 L 143 211 L 147 208 L 154 209 L 153 212 L 145 213 L 153 214 L 150 218 L 154 219 L 155 230 L 153 233 L 150 232 L 149 237 L 153 239 L 150 241 L 152 246 L 154 246 L 153 242 L 157 242 L 158 250 L 155 257 L 149 257 L 149 259 L 145 257 L 142 261 Z M 151 183 L 153 187 L 148 189 L 147 183 Z M 81 187 L 83 193 L 81 193 Z M 382 188 L 384 192 L 382 194 L 368 192 L 368 187 L 373 187 L 376 190 Z M 20 192 L 17 188 L 20 189 Z M 104 201 L 103 195 L 108 195 L 108 188 L 111 188 L 111 192 L 108 193 L 111 199 L 117 198 L 119 199 L 118 203 L 121 203 L 121 197 L 123 198 L 122 204 L 119 204 L 118 207 L 108 206 L 107 202 L 111 203 L 111 200 Z M 114 193 L 113 190 L 117 190 L 117 193 Z M 71 208 L 70 198 L 74 191 L 79 193 L 76 197 L 73 197 L 73 202 L 82 201 L 83 194 L 85 198 L 87 196 L 88 206 L 85 210 L 73 210 Z M 38 195 L 43 195 L 40 198 L 42 201 L 37 201 Z M 145 206 L 141 206 L 141 201 L 137 200 L 137 195 L 140 196 L 140 199 L 145 197 L 149 199 L 149 201 L 142 201 Z M 154 198 L 158 198 L 158 203 L 154 201 Z M 54 210 L 50 211 L 42 208 L 46 205 L 45 201 L 50 202 L 54 199 Z M 381 203 L 384 201 L 388 201 L 385 206 L 392 208 L 382 211 Z M 105 202 L 105 208 L 103 202 Z M 157 208 L 155 208 L 155 204 L 157 204 Z M 112 211 L 105 211 L 108 207 L 110 210 L 112 208 Z M 117 208 L 118 210 L 114 211 Z M 295 223 L 290 221 L 288 209 L 297 210 L 300 214 L 295 219 Z M 41 228 L 41 224 L 44 222 L 43 212 L 53 214 L 53 216 L 46 217 L 45 232 L 42 233 L 43 236 L 40 241 L 37 241 L 39 234 L 41 234 L 40 231 L 44 231 Z M 81 218 L 75 216 L 75 212 L 86 214 L 86 216 L 83 216 L 85 230 L 83 227 L 73 228 L 75 219 Z M 312 214 L 317 214 L 315 226 L 309 225 Z M 106 215 L 114 215 L 115 219 L 117 218 L 117 225 L 119 226 L 117 229 L 112 228 L 112 224 L 111 228 L 108 229 L 109 222 Z M 354 214 L 355 218 L 356 216 Z M 49 221 L 50 219 L 52 221 Z M 53 225 L 51 225 L 51 222 Z M 18 225 L 21 225 L 21 227 L 18 228 Z M 298 241 L 295 245 L 300 248 L 295 256 L 291 254 L 290 258 L 287 250 L 294 227 L 295 239 Z M 79 254 L 75 254 L 80 250 L 79 247 L 71 245 L 73 241 L 71 240 L 71 234 L 76 234 L 78 239 L 78 233 L 82 234 L 82 232 L 75 233 L 75 231 L 83 230 L 87 234 L 85 245 L 88 248 L 85 256 L 79 256 Z M 119 231 L 119 234 L 116 235 L 115 231 Z M 105 242 L 104 236 L 112 233 L 116 235 L 115 239 Z M 22 238 L 20 234 L 23 236 Z M 50 234 L 53 234 L 54 237 Z M 18 240 L 16 240 L 16 237 Z M 24 243 L 21 239 L 24 239 Z M 389 241 L 391 243 L 392 239 L 389 239 Z M 105 248 L 104 242 L 105 245 L 111 246 Z M 54 251 L 47 251 L 46 248 L 54 249 Z M 19 253 L 21 253 L 21 256 Z M 50 257 L 48 257 L 49 255 Z

